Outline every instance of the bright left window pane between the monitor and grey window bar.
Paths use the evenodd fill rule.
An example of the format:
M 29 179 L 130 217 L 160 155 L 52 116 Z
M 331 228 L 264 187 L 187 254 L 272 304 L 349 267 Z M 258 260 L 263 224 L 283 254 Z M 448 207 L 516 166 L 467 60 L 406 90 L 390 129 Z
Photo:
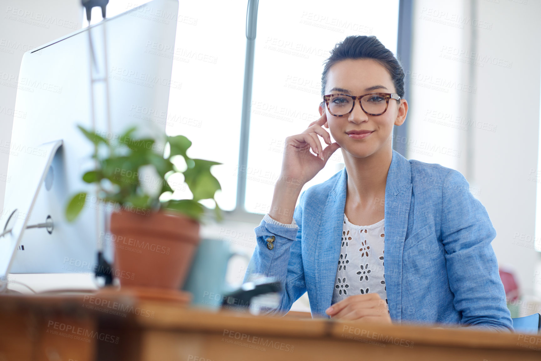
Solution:
M 110 2 L 107 16 L 144 3 Z M 101 10 L 94 8 L 91 23 L 99 21 Z M 245 24 L 245 2 L 179 4 L 171 83 L 182 86 L 170 89 L 166 132 L 182 134 L 193 142 L 188 149 L 190 157 L 223 163 L 213 167 L 212 173 L 222 187 L 216 193 L 216 201 L 226 211 L 232 211 L 236 204 L 237 184 L 233 173 L 239 159 Z M 86 26 L 84 15 L 83 27 Z M 177 189 L 175 196 L 191 198 L 192 194 L 185 188 Z M 214 207 L 212 201 L 202 203 Z

